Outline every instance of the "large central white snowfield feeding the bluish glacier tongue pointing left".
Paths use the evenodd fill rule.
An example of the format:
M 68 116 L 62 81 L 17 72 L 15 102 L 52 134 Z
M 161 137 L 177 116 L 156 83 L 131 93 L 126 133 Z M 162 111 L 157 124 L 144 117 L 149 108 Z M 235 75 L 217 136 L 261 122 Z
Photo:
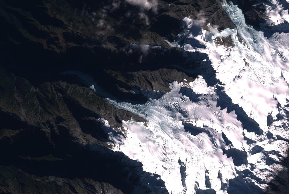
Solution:
M 206 189 L 207 169 L 212 188 L 223 193 L 218 172 L 222 173 L 223 182 L 234 178 L 236 172 L 232 158 L 222 154 L 221 149 L 226 145 L 221 133 L 223 131 L 237 149 L 248 149 L 243 140 L 241 122 L 236 120 L 234 111 L 227 114 L 227 109 L 216 107 L 218 97 L 215 93 L 202 95 L 200 102 L 192 103 L 179 93 L 182 86 L 182 83 L 174 82 L 170 85 L 171 92 L 143 105 L 110 100 L 116 107 L 146 118 L 148 125 L 123 121 L 128 131 L 127 138 L 115 150 L 141 161 L 145 171 L 161 175 L 169 192 L 194 193 L 196 181 L 200 188 Z M 204 128 L 212 137 L 207 133 L 193 136 L 185 132 L 182 122 L 198 127 L 208 126 Z M 179 158 L 186 164 L 186 188 L 181 182 Z

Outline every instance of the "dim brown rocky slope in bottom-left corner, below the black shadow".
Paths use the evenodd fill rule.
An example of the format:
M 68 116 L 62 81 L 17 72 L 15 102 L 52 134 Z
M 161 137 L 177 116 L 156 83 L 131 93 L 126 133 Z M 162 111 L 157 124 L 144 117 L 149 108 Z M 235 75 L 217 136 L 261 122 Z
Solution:
M 35 189 L 38 193 L 123 193 L 108 183 L 95 182 L 92 179 L 36 176 L 13 166 L 2 165 L 0 171 L 0 190 L 4 193 L 34 193 Z

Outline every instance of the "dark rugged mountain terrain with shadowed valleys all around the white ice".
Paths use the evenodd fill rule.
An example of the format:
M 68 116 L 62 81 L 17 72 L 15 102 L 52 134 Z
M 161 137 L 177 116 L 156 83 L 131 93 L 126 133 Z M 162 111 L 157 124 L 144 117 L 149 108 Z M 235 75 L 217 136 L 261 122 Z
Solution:
M 128 137 L 124 122 L 145 126 L 151 122 L 117 103 L 145 107 L 151 99 L 171 92 L 174 81 L 190 83 L 202 76 L 208 87 L 218 85 L 217 107 L 235 111 L 243 129 L 265 136 L 258 122 L 222 90 L 208 53 L 198 50 L 203 45 L 180 39 L 188 27 L 184 18 L 198 23 L 191 34 L 210 26 L 217 32 L 235 29 L 221 1 L 135 2 L 0 1 L 0 193 L 170 193 L 162 176 L 115 150 L 114 137 Z M 268 16 L 258 2 L 233 1 L 246 24 L 272 36 L 279 28 L 264 30 L 259 25 Z M 179 46 L 172 46 L 176 42 Z M 182 47 L 188 42 L 196 48 L 193 52 Z M 231 36 L 214 42 L 234 47 Z M 201 96 L 190 87 L 179 93 L 191 101 Z M 284 109 L 286 115 L 280 117 L 286 119 L 286 106 L 279 109 Z M 268 114 L 268 126 L 277 121 Z M 205 126 L 186 125 L 189 132 L 210 133 Z M 230 147 L 232 142 L 222 136 Z M 289 142 L 286 136 L 274 138 Z M 244 135 L 245 140 L 254 141 Z M 247 159 L 234 158 L 243 152 L 230 147 L 223 154 L 232 156 L 238 166 L 248 164 Z M 186 171 L 183 162 L 179 160 L 180 171 Z M 280 163 L 288 167 L 288 159 Z M 226 192 L 265 192 L 248 181 L 248 177 L 257 180 L 248 170 L 237 173 L 228 180 L 229 186 L 222 184 Z M 288 189 L 286 169 L 276 173 L 281 175 L 266 192 Z M 208 189 L 196 186 L 196 193 L 216 193 L 207 179 Z

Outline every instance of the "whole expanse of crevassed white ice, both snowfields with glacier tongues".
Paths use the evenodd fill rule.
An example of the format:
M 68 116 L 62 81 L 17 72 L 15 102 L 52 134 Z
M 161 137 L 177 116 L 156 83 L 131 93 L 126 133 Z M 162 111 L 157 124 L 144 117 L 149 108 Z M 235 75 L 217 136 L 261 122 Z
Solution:
M 123 122 L 128 131 L 127 137 L 115 140 L 115 150 L 141 161 L 145 171 L 161 175 L 171 193 L 195 193 L 196 188 L 213 188 L 217 193 L 226 193 L 226 190 L 221 190 L 221 185 L 235 178 L 238 175 L 236 170 L 245 169 L 261 180 L 251 180 L 254 184 L 266 189 L 275 173 L 284 169 L 278 161 L 287 156 L 288 144 L 285 140 L 289 139 L 286 120 L 289 35 L 275 33 L 267 39 L 263 32 L 246 25 L 237 6 L 223 1 L 222 7 L 235 24 L 235 29 L 217 32 L 210 27 L 209 31 L 202 30 L 195 35 L 190 33 L 194 21 L 185 18 L 188 29 L 179 38 L 196 39 L 206 48 L 180 45 L 178 41 L 170 45 L 207 53 L 217 79 L 223 84 L 223 91 L 232 103 L 242 107 L 245 114 L 259 124 L 262 134 L 243 129 L 235 111 L 227 113 L 227 108 L 221 110 L 217 107 L 219 87 L 208 87 L 202 76 L 190 83 L 186 80 L 174 82 L 170 84 L 171 92 L 143 105 L 108 99 L 116 107 L 147 120 L 147 123 Z M 216 37 L 226 36 L 233 40 L 234 47 L 231 49 L 218 46 L 213 41 Z M 273 118 L 269 127 L 268 113 Z M 186 125 L 201 131 L 190 133 Z M 272 134 L 273 138 L 268 134 Z M 231 144 L 224 140 L 224 136 Z M 245 136 L 256 143 L 247 144 Z M 256 145 L 263 151 L 252 153 Z M 223 150 L 230 148 L 246 152 L 246 161 L 237 164 L 232 157 L 223 154 Z M 276 162 L 267 163 L 268 155 Z M 185 171 L 181 166 L 185 167 Z M 219 173 L 221 177 L 218 177 Z

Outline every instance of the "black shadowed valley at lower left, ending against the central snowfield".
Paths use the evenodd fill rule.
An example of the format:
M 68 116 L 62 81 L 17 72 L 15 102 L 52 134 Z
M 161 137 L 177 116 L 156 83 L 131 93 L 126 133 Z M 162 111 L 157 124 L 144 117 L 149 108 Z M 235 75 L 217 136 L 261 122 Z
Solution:
M 87 180 L 91 180 L 92 184 L 108 182 L 124 193 L 134 193 L 136 191 L 141 193 L 167 193 L 163 187 L 164 182 L 156 180 L 157 175 L 151 177 L 151 173 L 142 170 L 140 162 L 128 159 L 121 152 L 113 152 L 98 145 L 83 146 L 73 143 L 70 143 L 66 150 L 63 150 L 65 151 L 64 155 L 57 150 L 55 151 L 52 151 L 55 153 L 52 153 L 51 156 L 45 157 L 17 156 L 14 155 L 15 152 L 2 152 L 1 154 L 6 159 L 1 161 L 1 165 L 15 166 L 25 172 L 25 175 L 22 175 L 25 179 L 28 179 L 31 174 L 36 177 L 52 176 L 52 180 L 64 179 L 64 181 L 69 182 L 70 190 L 76 184 L 85 184 Z M 54 155 L 57 155 L 57 158 L 54 158 Z M 54 185 L 55 183 L 51 182 L 50 184 Z M 16 183 L 14 186 L 17 185 Z M 29 190 L 34 189 L 34 187 L 37 187 L 37 180 L 26 180 L 24 188 L 21 189 L 25 189 L 26 186 L 30 187 Z M 46 187 L 44 184 L 39 186 L 41 190 Z M 5 189 L 9 188 L 1 188 L 2 191 Z M 29 193 L 29 190 L 22 191 L 23 193 Z M 75 191 L 71 190 L 70 192 L 74 193 Z

